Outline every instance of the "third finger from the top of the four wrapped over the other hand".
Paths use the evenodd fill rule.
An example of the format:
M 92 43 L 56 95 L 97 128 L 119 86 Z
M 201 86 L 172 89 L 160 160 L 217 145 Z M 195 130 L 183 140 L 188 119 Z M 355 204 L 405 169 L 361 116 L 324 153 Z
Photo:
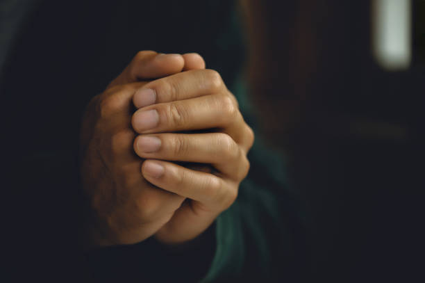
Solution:
M 133 147 L 143 159 L 212 164 L 235 181 L 244 179 L 249 170 L 249 161 L 240 146 L 223 133 L 140 135 Z

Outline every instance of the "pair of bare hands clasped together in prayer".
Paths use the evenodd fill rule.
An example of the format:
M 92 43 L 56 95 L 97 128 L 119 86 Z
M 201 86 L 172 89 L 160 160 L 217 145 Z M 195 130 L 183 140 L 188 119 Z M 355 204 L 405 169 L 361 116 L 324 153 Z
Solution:
M 204 67 L 197 54 L 142 51 L 88 105 L 81 176 L 89 248 L 149 236 L 190 241 L 235 201 L 253 131 L 219 74 Z M 196 130 L 208 131 L 184 134 Z

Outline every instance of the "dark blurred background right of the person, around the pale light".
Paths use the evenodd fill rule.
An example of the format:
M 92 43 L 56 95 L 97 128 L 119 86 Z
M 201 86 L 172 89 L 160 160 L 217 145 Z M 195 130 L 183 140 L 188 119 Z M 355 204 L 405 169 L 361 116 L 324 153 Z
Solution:
M 253 99 L 306 202 L 311 282 L 421 282 L 425 2 L 403 72 L 372 58 L 371 1 L 251 3 Z

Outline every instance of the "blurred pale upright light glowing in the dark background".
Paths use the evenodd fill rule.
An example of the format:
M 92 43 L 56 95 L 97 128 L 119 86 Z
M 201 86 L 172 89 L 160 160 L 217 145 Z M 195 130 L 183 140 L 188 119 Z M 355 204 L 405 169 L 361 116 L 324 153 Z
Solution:
M 372 49 L 376 62 L 388 71 L 408 69 L 412 59 L 411 0 L 374 0 L 372 5 Z

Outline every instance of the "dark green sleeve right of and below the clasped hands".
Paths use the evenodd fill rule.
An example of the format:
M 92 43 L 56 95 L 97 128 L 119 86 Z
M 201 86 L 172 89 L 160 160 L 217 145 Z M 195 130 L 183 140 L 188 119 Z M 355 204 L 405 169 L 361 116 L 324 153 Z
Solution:
M 233 93 L 251 127 L 251 105 L 242 80 Z M 202 282 L 246 280 L 296 281 L 306 259 L 301 204 L 285 175 L 285 159 L 268 150 L 257 136 L 249 153 L 250 173 L 239 188 L 238 199 L 216 220 L 217 248 Z

